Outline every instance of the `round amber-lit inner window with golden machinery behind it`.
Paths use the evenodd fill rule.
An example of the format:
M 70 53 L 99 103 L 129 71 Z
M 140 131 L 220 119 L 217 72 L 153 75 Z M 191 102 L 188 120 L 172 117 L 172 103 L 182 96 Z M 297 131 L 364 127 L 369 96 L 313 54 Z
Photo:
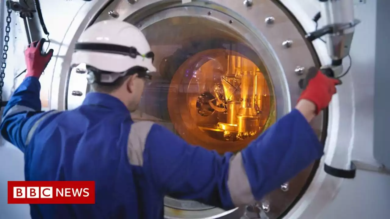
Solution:
M 193 55 L 175 72 L 169 90 L 168 112 L 177 134 L 220 153 L 246 147 L 269 117 L 266 79 L 251 60 L 234 51 Z

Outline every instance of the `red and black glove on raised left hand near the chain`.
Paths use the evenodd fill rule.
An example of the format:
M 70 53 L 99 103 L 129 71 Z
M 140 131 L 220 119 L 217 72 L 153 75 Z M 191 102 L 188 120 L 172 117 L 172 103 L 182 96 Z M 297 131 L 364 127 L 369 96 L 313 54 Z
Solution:
M 42 46 L 45 39 L 32 42 L 28 45 L 25 51 L 25 60 L 27 66 L 27 77 L 41 77 L 43 70 L 45 70 L 51 57 L 53 56 L 53 49 L 50 49 L 48 53 L 44 53 Z

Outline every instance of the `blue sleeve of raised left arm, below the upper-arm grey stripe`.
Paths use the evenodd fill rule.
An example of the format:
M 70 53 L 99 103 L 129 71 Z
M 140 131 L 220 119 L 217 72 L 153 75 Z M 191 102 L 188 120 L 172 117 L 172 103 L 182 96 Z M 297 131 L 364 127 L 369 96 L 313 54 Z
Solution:
M 28 133 L 45 112 L 41 111 L 39 79 L 28 77 L 15 90 L 4 108 L 0 125 L 1 135 L 22 152 L 28 143 Z

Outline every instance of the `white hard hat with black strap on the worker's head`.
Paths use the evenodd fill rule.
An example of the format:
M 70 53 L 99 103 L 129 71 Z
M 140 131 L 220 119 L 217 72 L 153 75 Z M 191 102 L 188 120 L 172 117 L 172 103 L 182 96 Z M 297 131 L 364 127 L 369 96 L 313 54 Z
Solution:
M 155 72 L 153 59 L 150 45 L 137 27 L 124 21 L 106 20 L 91 25 L 81 34 L 72 64 L 83 63 L 99 71 L 120 73 L 106 79 L 110 83 L 134 67 Z

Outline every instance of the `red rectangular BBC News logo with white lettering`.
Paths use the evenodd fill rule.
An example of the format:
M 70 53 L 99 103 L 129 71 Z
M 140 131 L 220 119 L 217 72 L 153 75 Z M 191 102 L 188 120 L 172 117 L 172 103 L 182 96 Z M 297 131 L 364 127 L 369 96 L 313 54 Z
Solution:
M 8 181 L 9 204 L 94 204 L 94 181 Z

